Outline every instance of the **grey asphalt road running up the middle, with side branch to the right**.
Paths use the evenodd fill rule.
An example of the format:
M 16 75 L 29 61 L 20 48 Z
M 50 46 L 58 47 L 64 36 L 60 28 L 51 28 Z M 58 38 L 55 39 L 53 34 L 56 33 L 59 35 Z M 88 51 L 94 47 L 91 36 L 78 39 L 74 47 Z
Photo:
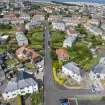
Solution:
M 45 32 L 45 71 L 44 71 L 44 105 L 60 105 L 59 99 L 69 96 L 105 96 L 105 92 L 92 93 L 88 89 L 66 89 L 56 84 L 53 80 L 52 60 L 49 51 L 51 50 L 51 35 L 48 22 L 44 22 Z

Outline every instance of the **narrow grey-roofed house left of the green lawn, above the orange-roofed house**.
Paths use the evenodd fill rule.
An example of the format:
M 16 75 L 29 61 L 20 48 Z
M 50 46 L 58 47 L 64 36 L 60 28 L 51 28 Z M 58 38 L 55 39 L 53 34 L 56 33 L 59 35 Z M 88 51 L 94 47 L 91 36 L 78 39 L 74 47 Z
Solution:
M 17 40 L 18 46 L 28 45 L 28 39 L 26 38 L 23 32 L 16 32 L 16 40 Z

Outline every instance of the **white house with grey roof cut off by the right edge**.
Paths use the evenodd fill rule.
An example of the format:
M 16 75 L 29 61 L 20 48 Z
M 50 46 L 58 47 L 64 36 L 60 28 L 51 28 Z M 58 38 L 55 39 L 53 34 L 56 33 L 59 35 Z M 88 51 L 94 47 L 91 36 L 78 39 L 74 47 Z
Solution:
M 91 79 L 98 79 L 103 80 L 105 79 L 105 64 L 103 64 L 101 61 L 99 64 L 97 64 L 92 71 L 90 71 L 90 78 Z

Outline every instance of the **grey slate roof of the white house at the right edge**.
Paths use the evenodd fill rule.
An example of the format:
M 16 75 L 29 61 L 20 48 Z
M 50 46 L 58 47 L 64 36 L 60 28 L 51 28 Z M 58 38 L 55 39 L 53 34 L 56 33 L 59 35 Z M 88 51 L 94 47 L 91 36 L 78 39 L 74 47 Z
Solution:
M 105 65 L 104 64 L 98 64 L 94 67 L 93 72 L 100 73 L 100 74 L 105 74 Z

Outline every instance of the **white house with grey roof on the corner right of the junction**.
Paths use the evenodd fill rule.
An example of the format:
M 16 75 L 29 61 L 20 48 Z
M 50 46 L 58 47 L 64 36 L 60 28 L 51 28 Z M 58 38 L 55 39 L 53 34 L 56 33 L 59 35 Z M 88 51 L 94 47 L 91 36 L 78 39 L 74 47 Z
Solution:
M 75 62 L 65 64 L 62 67 L 62 73 L 64 73 L 67 76 L 70 76 L 77 82 L 80 82 L 82 80 L 82 71 Z

